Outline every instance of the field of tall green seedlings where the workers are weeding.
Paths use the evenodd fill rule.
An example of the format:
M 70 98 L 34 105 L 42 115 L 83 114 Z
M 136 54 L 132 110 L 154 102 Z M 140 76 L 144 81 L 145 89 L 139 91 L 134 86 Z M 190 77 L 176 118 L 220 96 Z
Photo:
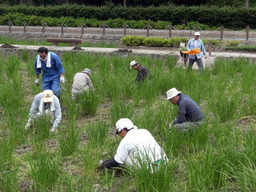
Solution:
M 138 85 L 129 70 L 136 59 L 151 78 Z M 24 130 L 34 95 L 34 57 L 28 51 L 0 58 L 0 191 L 255 191 L 256 70 L 239 58 L 217 60 L 204 72 L 175 67 L 176 59 L 62 55 L 62 122 L 49 134 L 47 122 Z M 92 70 L 94 91 L 71 99 L 74 74 Z M 176 87 L 202 107 L 206 123 L 191 134 L 169 130 L 178 107 L 166 101 Z M 130 118 L 150 130 L 170 162 L 151 174 L 101 170 L 98 161 L 112 158 L 121 138 L 115 122 Z

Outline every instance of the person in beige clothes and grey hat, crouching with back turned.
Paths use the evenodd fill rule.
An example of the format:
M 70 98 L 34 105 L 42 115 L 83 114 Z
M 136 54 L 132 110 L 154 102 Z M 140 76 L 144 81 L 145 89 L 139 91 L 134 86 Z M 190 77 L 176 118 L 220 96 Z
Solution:
M 84 91 L 93 87 L 90 75 L 91 71 L 88 68 L 74 75 L 74 82 L 71 90 L 72 98 L 75 98 L 77 94 L 82 94 Z

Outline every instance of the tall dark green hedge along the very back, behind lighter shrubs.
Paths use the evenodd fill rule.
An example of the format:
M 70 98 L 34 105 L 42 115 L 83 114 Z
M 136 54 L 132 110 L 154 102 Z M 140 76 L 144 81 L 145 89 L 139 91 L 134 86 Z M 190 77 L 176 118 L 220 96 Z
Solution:
M 2 6 L 0 14 L 23 13 L 43 17 L 96 18 L 98 20 L 124 18 L 128 20 L 168 21 L 174 25 L 200 22 L 207 26 L 243 29 L 256 26 L 256 7 L 206 7 L 206 6 Z

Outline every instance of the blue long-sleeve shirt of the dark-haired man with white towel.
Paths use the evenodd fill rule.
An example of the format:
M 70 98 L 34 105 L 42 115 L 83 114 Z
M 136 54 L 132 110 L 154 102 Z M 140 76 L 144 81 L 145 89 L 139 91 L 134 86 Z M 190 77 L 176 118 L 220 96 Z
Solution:
M 54 78 L 60 78 L 60 74 L 64 73 L 64 68 L 62 66 L 61 59 L 57 54 L 53 52 L 50 53 L 50 67 L 46 67 L 46 62 L 41 60 L 41 68 L 37 68 L 38 65 L 38 56 L 34 61 L 34 70 L 35 74 L 40 74 L 42 71 L 42 82 L 50 82 Z

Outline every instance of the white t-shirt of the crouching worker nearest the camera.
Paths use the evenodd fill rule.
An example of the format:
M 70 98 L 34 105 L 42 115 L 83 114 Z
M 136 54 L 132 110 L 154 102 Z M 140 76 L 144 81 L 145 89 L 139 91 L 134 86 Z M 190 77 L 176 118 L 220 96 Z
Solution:
M 120 164 L 133 166 L 138 162 L 156 162 L 165 160 L 166 154 L 148 130 L 130 130 L 118 146 L 114 160 Z

